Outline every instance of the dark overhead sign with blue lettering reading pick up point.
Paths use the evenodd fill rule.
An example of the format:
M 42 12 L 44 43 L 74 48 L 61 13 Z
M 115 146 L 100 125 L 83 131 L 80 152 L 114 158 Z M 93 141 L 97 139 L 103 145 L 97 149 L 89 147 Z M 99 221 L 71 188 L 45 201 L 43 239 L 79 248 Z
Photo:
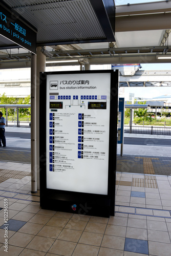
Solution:
M 2 3 L 0 4 L 0 34 L 36 54 L 36 31 Z

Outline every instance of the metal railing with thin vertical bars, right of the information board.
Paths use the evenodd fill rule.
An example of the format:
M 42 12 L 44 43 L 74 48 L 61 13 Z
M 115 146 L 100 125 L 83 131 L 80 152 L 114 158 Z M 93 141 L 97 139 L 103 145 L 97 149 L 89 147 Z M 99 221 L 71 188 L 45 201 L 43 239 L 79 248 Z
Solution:
M 124 126 L 124 133 L 171 135 L 171 127 L 157 126 Z

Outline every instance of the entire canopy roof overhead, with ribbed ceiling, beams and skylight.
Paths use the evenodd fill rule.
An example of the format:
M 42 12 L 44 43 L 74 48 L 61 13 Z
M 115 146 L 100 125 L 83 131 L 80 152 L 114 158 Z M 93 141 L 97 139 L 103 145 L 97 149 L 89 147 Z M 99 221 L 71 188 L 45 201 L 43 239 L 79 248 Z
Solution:
M 52 54 L 47 61 L 72 59 L 91 65 L 170 62 L 158 57 L 171 55 L 171 1 L 116 6 L 116 18 L 113 0 L 3 0 L 1 3 L 37 30 L 37 46 L 46 46 Z M 23 65 L 27 66 L 31 53 L 15 47 L 18 48 L 0 37 L 0 60 L 8 62 L 8 67 L 9 61 L 24 60 Z M 3 68 L 1 62 L 0 68 Z

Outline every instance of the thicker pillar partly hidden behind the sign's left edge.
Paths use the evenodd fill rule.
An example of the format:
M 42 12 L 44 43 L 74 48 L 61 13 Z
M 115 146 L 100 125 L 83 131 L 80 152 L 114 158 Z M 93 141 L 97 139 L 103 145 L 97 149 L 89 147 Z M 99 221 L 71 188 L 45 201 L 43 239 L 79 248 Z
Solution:
M 37 66 L 36 66 L 36 154 L 37 154 L 37 189 L 39 189 L 39 74 L 46 71 L 46 56 L 40 52 L 41 47 L 37 47 Z M 42 106 L 42 111 L 46 106 Z M 46 125 L 46 124 L 45 124 Z M 42 138 L 46 139 L 46 138 Z

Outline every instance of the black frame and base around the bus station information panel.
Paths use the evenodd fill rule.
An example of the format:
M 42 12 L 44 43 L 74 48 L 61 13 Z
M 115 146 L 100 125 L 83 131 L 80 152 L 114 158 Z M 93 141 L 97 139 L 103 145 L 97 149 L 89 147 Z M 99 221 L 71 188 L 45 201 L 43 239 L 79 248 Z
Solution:
M 78 193 L 49 189 L 46 185 L 46 117 L 47 103 L 47 75 L 50 74 L 76 74 L 76 73 L 110 73 L 110 133 L 109 133 L 109 170 L 108 170 L 108 195 Z M 115 214 L 115 180 L 116 180 L 116 155 L 117 155 L 117 113 L 118 113 L 118 70 L 102 71 L 71 71 L 71 72 L 41 72 L 39 95 L 39 165 L 40 165 L 40 206 L 43 209 L 71 212 L 90 216 L 110 217 Z M 73 205 L 77 205 L 73 211 Z

